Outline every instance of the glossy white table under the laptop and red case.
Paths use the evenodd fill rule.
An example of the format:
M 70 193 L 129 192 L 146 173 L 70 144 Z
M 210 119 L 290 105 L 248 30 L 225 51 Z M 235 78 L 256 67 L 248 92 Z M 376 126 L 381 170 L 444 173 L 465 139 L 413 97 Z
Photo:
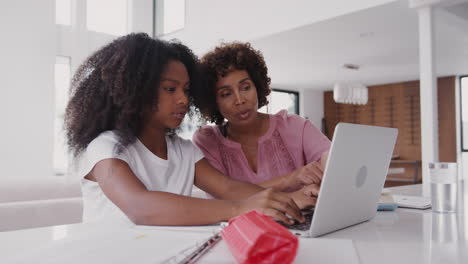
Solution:
M 418 194 L 420 189 L 420 185 L 390 188 L 393 193 L 408 195 Z M 465 193 L 464 200 L 467 198 Z M 463 209 L 468 212 L 466 205 Z M 74 224 L 0 232 L 0 263 L 157 263 L 193 241 L 208 237 L 216 228 L 116 229 Z M 223 243 L 200 263 L 232 263 Z M 318 239 L 301 239 L 300 245 L 296 263 L 313 263 L 314 256 L 324 250 L 337 256 L 347 254 L 349 246 L 359 263 L 468 263 L 468 217 L 464 213 L 398 208 L 394 212 L 378 212 L 368 222 Z

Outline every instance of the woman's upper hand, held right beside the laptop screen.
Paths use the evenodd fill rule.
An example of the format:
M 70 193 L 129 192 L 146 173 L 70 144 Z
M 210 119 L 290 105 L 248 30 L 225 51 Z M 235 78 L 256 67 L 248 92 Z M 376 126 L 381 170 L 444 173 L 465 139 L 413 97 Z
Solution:
M 294 170 L 287 176 L 289 189 L 298 189 L 304 185 L 320 184 L 323 177 L 323 168 L 320 162 L 313 161 L 304 167 Z

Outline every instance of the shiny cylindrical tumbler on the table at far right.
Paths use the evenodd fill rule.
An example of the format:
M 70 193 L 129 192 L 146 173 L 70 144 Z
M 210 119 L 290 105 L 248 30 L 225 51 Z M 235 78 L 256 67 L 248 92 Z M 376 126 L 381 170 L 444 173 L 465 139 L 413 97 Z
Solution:
M 457 209 L 457 163 L 429 163 L 432 211 L 454 213 Z

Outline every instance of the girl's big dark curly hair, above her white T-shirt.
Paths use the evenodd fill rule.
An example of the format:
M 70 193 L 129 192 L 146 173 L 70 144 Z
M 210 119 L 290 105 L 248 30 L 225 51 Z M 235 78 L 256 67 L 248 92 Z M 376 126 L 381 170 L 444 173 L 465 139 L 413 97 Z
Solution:
M 119 151 L 134 142 L 142 132 L 148 109 L 157 107 L 157 87 L 171 60 L 185 65 L 190 90 L 195 92 L 198 59 L 180 43 L 132 33 L 88 57 L 72 79 L 71 98 L 65 111 L 67 144 L 73 155 L 78 156 L 107 130 L 117 133 Z M 189 104 L 192 102 L 189 94 Z

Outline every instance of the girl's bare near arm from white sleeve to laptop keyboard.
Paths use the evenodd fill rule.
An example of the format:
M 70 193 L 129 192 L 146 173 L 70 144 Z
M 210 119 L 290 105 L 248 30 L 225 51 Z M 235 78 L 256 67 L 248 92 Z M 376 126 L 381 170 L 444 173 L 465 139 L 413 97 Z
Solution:
M 200 168 L 199 163 L 196 165 L 196 170 Z M 198 173 L 200 171 L 197 175 Z M 207 176 L 210 177 L 209 173 L 196 177 Z M 303 221 L 292 199 L 272 190 L 262 191 L 240 201 L 206 200 L 148 191 L 128 164 L 119 159 L 101 160 L 87 178 L 96 180 L 104 194 L 139 225 L 204 225 L 226 221 L 252 209 L 258 209 L 285 222 L 289 222 L 285 214 Z M 225 188 L 222 186 L 223 180 L 217 183 L 220 185 L 214 189 Z M 249 190 L 245 195 L 254 193 L 258 189 Z

